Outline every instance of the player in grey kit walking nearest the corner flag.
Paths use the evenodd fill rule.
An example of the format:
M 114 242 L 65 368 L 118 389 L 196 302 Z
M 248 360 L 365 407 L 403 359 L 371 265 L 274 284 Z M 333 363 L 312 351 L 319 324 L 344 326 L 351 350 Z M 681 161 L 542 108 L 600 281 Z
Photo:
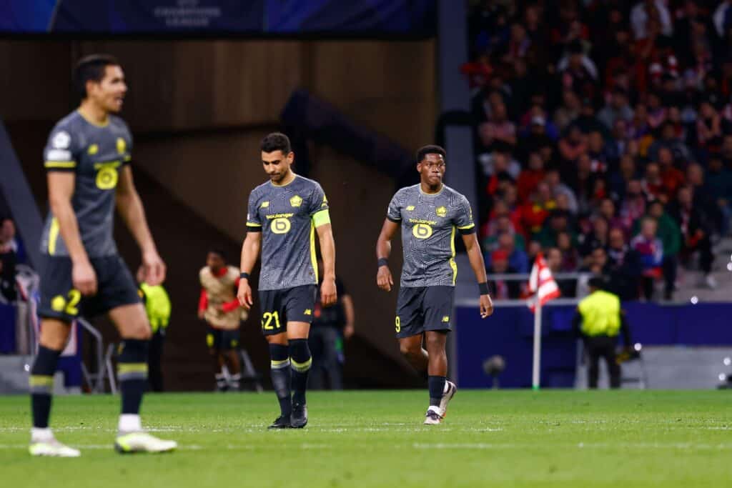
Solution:
M 463 236 L 470 266 L 478 280 L 480 316 L 493 313 L 488 277 L 467 198 L 443 184 L 445 150 L 425 146 L 417 152 L 420 182 L 400 189 L 389 203 L 376 244 L 379 288 L 391 291 L 392 239 L 402 226 L 404 263 L 397 299 L 395 328 L 399 348 L 420 373 L 427 373 L 430 407 L 425 424 L 439 424 L 457 387 L 447 381 L 445 343 L 452 326 L 455 299 L 455 232 Z M 427 350 L 422 348 L 422 341 Z

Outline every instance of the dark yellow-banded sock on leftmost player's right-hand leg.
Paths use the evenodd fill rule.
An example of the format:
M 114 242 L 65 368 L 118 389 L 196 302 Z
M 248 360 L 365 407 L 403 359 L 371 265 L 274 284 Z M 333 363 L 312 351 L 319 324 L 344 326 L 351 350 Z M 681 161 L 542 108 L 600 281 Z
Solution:
M 149 341 L 123 339 L 117 359 L 117 378 L 122 392 L 122 415 L 140 413 L 142 395 L 147 386 L 147 352 Z

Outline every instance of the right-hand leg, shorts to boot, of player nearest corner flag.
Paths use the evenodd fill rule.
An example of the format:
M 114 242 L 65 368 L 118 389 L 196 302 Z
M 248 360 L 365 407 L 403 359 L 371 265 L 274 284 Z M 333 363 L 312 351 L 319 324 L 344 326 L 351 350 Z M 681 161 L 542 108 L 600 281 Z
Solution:
M 425 291 L 422 301 L 430 391 L 430 406 L 427 408 L 425 424 L 436 424 L 444 418 L 447 405 L 458 389 L 455 383 L 447 380 L 447 334 L 452 329 L 454 296 L 454 287 L 431 286 Z

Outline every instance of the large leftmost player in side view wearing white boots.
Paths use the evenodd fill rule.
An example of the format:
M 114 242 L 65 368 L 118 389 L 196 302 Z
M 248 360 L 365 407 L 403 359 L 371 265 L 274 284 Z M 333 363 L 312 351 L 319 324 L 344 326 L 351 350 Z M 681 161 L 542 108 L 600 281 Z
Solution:
M 132 182 L 132 136 L 122 119 L 127 86 L 112 56 L 87 56 L 75 68 L 81 105 L 53 127 L 44 151 L 51 212 L 42 233 L 40 345 L 31 369 L 34 456 L 78 457 L 48 427 L 53 373 L 80 315 L 107 313 L 122 337 L 119 384 L 122 414 L 114 447 L 120 452 L 176 448 L 142 429 L 140 404 L 147 385 L 150 324 L 135 280 L 113 240 L 114 208 L 142 252 L 144 279 L 158 285 L 165 264 L 157 253 Z

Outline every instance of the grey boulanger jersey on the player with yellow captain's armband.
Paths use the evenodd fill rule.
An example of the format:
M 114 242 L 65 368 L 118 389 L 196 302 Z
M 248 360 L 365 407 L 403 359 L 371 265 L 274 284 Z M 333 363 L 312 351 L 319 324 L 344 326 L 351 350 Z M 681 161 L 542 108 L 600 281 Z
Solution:
M 315 226 L 327 210 L 321 186 L 299 175 L 283 187 L 267 181 L 252 190 L 247 230 L 262 233 L 259 290 L 318 284 Z

